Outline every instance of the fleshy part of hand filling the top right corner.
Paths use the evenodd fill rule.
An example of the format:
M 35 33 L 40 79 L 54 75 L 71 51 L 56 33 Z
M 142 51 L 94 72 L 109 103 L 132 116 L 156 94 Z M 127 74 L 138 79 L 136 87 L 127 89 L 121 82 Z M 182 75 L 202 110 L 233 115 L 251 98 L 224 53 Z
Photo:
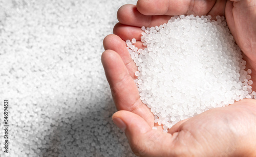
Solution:
M 256 2 L 248 0 L 228 2 L 227 9 L 231 10 L 227 21 L 228 24 L 232 24 L 232 27 L 229 25 L 229 29 L 235 41 L 243 53 L 255 62 Z

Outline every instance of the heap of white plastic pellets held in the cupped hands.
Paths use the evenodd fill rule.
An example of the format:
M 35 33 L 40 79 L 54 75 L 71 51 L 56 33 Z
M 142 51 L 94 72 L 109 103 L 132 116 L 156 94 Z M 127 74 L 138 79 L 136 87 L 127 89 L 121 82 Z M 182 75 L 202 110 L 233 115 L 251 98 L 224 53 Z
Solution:
M 180 120 L 255 95 L 240 48 L 224 17 L 216 18 L 174 16 L 159 27 L 142 27 L 146 48 L 126 41 L 138 66 L 140 99 L 164 132 Z

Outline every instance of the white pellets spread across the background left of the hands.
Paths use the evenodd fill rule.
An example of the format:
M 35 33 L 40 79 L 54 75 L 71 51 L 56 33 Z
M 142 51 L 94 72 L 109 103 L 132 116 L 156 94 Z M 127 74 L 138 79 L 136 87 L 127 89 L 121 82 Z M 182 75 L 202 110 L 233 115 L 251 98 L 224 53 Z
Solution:
M 100 58 L 118 8 L 136 2 L 0 0 L 1 157 L 135 156 L 112 122 Z

